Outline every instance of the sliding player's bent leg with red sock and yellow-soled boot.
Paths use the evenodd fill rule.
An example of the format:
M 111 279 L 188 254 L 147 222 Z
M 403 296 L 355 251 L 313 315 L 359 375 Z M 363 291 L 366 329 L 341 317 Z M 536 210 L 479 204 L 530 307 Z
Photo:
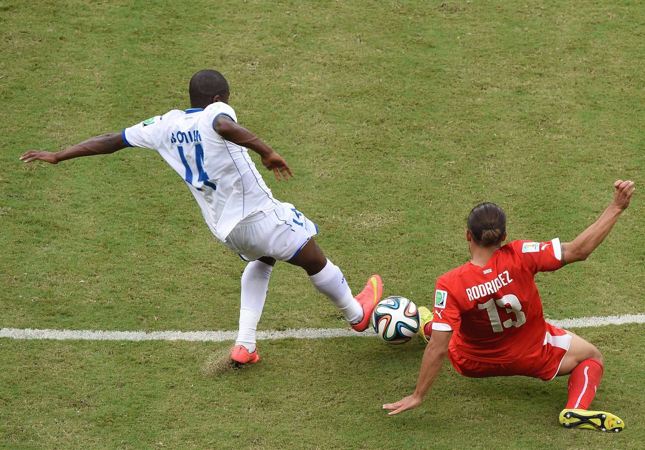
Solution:
M 588 428 L 618 433 L 625 424 L 618 416 L 606 411 L 590 411 L 591 400 L 602 378 L 604 358 L 599 349 L 571 331 L 569 351 L 562 359 L 558 377 L 570 375 L 569 398 L 560 413 L 566 428 Z

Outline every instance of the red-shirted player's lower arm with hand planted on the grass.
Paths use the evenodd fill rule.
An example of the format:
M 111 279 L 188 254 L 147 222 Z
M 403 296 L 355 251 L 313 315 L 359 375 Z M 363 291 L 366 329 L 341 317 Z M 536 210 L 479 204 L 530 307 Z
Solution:
M 421 404 L 423 399 L 430 391 L 430 387 L 434 384 L 441 365 L 448 355 L 448 344 L 452 338 L 452 331 L 432 331 L 432 339 L 426 346 L 426 351 L 423 352 L 423 359 L 421 360 L 421 371 L 419 371 L 419 379 L 417 380 L 417 389 L 412 395 L 401 398 L 398 402 L 388 403 L 383 405 L 383 409 L 392 409 L 388 415 L 402 413 L 408 409 L 415 408 Z

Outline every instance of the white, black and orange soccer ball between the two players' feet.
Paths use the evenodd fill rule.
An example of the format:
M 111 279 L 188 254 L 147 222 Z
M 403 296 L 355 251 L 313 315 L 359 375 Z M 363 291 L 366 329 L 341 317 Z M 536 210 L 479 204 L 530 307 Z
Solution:
M 405 297 L 383 298 L 372 312 L 372 327 L 388 344 L 408 342 L 419 331 L 420 320 L 417 305 Z

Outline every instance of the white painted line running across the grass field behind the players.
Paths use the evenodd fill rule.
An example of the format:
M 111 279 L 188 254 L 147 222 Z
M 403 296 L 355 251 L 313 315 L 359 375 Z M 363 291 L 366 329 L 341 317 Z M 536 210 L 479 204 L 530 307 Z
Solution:
M 645 314 L 626 314 L 607 317 L 580 317 L 548 320 L 562 328 L 586 328 L 606 325 L 645 324 Z M 284 331 L 258 331 L 259 340 L 266 339 L 321 339 L 334 337 L 373 337 L 375 333 L 368 329 L 357 333 L 346 328 L 291 328 Z M 19 329 L 2 328 L 0 338 L 14 339 L 55 339 L 55 340 L 188 340 L 196 342 L 224 342 L 235 340 L 237 331 L 93 331 L 91 329 Z

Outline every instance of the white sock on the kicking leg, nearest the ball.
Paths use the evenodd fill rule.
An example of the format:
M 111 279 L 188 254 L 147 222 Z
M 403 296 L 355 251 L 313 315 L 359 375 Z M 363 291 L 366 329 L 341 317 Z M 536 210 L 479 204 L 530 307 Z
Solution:
M 350 324 L 361 322 L 363 313 L 359 302 L 352 296 L 352 289 L 347 286 L 341 269 L 329 259 L 323 270 L 309 279 L 320 293 L 332 300 L 333 305 L 341 311 Z

